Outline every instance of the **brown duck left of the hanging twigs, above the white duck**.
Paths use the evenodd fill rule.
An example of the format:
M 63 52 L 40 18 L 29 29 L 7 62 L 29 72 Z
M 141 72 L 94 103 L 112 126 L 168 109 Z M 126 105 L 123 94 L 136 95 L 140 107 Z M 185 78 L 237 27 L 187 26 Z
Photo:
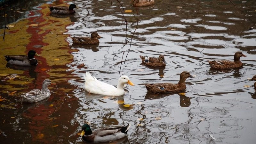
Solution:
M 99 34 L 97 32 L 92 32 L 91 38 L 89 37 L 71 37 L 73 40 L 73 44 L 81 44 L 81 45 L 95 45 L 100 43 Z

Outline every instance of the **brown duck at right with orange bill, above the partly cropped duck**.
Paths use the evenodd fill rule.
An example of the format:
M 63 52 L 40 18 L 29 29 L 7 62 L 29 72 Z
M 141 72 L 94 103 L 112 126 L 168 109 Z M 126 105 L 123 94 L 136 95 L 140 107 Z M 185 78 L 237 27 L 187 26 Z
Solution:
M 222 60 L 222 61 L 208 61 L 210 67 L 213 69 L 231 69 L 241 68 L 243 63 L 240 61 L 240 57 L 246 57 L 242 52 L 236 52 L 234 55 L 234 61 Z

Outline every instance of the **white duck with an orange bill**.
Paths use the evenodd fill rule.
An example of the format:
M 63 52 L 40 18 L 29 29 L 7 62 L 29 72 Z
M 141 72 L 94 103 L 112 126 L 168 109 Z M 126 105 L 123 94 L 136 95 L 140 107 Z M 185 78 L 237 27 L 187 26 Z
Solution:
M 84 89 L 93 94 L 100 94 L 106 96 L 122 96 L 124 95 L 124 84 L 128 83 L 132 86 L 134 84 L 130 81 L 128 76 L 121 76 L 118 80 L 117 88 L 108 83 L 98 81 L 94 76 L 91 76 L 89 72 L 84 75 Z

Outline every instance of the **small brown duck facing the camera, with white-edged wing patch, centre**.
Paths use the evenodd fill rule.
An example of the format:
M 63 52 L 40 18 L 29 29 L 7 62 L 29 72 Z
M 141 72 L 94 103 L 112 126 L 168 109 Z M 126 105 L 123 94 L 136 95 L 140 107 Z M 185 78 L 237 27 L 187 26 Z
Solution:
M 141 56 L 140 59 L 142 63 L 146 66 L 155 67 L 155 68 L 164 68 L 166 61 L 164 60 L 164 55 L 160 54 L 158 58 Z

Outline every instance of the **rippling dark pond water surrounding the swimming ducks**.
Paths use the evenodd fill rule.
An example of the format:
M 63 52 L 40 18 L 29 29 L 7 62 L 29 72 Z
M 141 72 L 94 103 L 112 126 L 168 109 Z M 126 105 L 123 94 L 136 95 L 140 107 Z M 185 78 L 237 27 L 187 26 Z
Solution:
M 136 28 L 136 8 L 122 1 L 126 10 L 132 10 L 124 13 L 126 43 L 126 26 L 115 0 L 112 5 L 104 0 L 74 1 L 80 9 L 66 18 L 48 10 L 49 4 L 65 2 L 40 4 L 28 18 L 12 23 L 0 43 L 0 129 L 7 135 L 0 140 L 82 143 L 77 133 L 89 122 L 93 129 L 132 124 L 120 143 L 254 143 L 256 93 L 248 78 L 256 74 L 256 2 L 233 2 L 243 14 L 228 0 L 162 0 L 138 8 L 138 29 L 121 67 L 121 75 L 129 76 L 135 86 L 126 86 L 121 97 L 85 92 L 83 74 L 90 71 L 100 81 L 117 84 L 123 52 L 130 48 Z M 89 36 L 93 31 L 102 37 L 99 45 L 71 46 L 69 36 Z M 4 54 L 30 49 L 41 55 L 36 57 L 38 66 L 5 68 Z M 241 58 L 243 68 L 209 69 L 207 60 L 233 60 L 236 51 L 247 56 Z M 139 55 L 159 54 L 165 56 L 166 68 L 141 65 Z M 195 76 L 186 81 L 186 95 L 150 94 L 143 85 L 177 83 L 182 71 Z M 49 86 L 48 100 L 20 103 L 21 93 L 40 89 L 46 78 L 57 83 Z

